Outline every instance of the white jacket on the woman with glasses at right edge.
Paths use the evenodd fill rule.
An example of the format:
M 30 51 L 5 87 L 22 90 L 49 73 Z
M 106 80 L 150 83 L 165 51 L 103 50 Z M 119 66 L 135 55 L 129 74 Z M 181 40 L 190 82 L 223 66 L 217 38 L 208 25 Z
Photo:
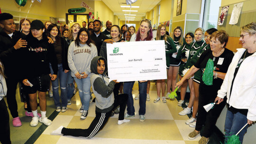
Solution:
M 223 99 L 227 95 L 227 103 L 230 107 L 248 109 L 247 119 L 256 121 L 256 53 L 248 56 L 240 65 L 230 97 L 230 88 L 236 66 L 246 51 L 244 48 L 237 50 L 238 52 L 234 55 L 218 91 L 218 97 Z

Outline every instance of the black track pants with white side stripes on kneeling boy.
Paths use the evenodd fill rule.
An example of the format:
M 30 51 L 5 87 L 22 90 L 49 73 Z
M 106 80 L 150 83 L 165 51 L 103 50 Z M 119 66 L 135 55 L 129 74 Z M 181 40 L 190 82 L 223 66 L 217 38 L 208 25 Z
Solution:
M 119 120 L 124 119 L 124 112 L 125 112 L 127 99 L 128 99 L 127 94 L 120 94 L 115 96 L 113 109 L 115 109 L 117 106 L 120 106 L 120 112 L 119 112 L 119 118 L 118 118 Z M 96 113 L 96 117 L 93 119 L 88 129 L 71 129 L 71 128 L 64 127 L 61 133 L 64 135 L 82 136 L 90 139 L 91 137 L 96 135 L 106 125 L 106 123 L 110 118 L 112 110 L 107 113 L 100 113 L 97 111 L 95 113 Z

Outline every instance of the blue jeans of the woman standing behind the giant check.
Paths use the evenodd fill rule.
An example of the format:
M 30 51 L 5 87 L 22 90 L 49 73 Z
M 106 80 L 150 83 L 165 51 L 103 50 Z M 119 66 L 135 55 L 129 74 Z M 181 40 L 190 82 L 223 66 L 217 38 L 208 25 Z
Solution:
M 124 82 L 123 91 L 128 94 L 127 100 L 127 113 L 130 116 L 135 115 L 135 109 L 133 106 L 132 88 L 135 81 Z M 139 115 L 145 115 L 146 113 L 146 86 L 147 82 L 138 82 L 139 86 Z

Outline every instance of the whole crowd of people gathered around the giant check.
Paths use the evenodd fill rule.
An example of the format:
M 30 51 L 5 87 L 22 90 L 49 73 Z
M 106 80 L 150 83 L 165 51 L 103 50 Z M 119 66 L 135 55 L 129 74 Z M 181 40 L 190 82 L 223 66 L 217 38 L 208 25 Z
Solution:
M 25 114 L 32 117 L 30 126 L 37 126 L 38 121 L 46 126 L 52 124 L 46 117 L 46 92 L 51 87 L 50 83 L 52 94 L 50 91 L 49 96 L 52 95 L 57 112 L 65 112 L 67 105 L 71 105 L 74 82 L 77 84 L 82 103 L 82 119 L 88 115 L 92 87 L 96 98 L 92 100 L 96 104 L 96 117 L 89 128 L 69 129 L 60 126 L 52 134 L 91 138 L 106 125 L 114 113 L 119 113 L 119 125 L 129 122 L 125 118 L 135 117 L 132 97 L 135 81 L 109 81 L 107 77 L 106 44 L 116 42 L 165 41 L 167 80 L 156 81 L 157 98 L 154 99 L 154 103 L 161 100 L 165 103 L 166 99 L 170 99 L 170 93 L 178 87 L 181 88 L 181 100 L 177 105 L 182 106 L 189 85 L 189 103 L 186 103 L 187 108 L 179 113 L 183 116 L 192 112 L 192 117 L 185 122 L 195 127 L 188 135 L 189 139 L 195 139 L 200 135 L 204 126 L 205 130 L 201 133 L 199 144 L 207 144 L 212 128 L 226 103 L 226 136 L 236 134 L 245 124 L 250 125 L 256 120 L 256 78 L 253 77 L 256 72 L 253 63 L 256 60 L 256 23 L 241 27 L 239 40 L 243 48 L 238 49 L 235 55 L 225 48 L 229 35 L 224 30 L 215 28 L 204 31 L 199 27 L 194 34 L 189 32 L 183 37 L 181 27 L 175 27 L 171 36 L 168 36 L 163 24 L 158 26 L 154 35 L 151 21 L 148 19 L 140 22 L 137 31 L 133 26 L 123 25 L 120 28 L 118 25 L 112 25 L 111 21 L 106 22 L 106 29 L 103 32 L 100 20 L 89 22 L 88 28 L 86 25 L 85 21 L 82 22 L 82 27 L 79 23 L 74 23 L 70 29 L 68 25 L 64 25 L 61 32 L 60 27 L 50 21 L 43 24 L 40 20 L 30 22 L 28 19 L 22 19 L 17 31 L 13 16 L 8 13 L 0 14 L 2 144 L 10 144 L 9 114 L 3 97 L 7 97 L 13 126 L 22 125 L 16 101 L 18 82 L 20 96 L 26 109 Z M 202 81 L 209 59 L 213 61 L 215 68 L 210 76 L 211 85 Z M 150 100 L 150 81 L 138 81 L 138 87 L 139 94 L 135 99 L 139 99 L 139 121 L 144 122 L 146 100 Z M 37 113 L 37 95 L 41 113 Z M 213 102 L 217 105 L 207 113 L 203 106 Z M 126 106 L 127 113 L 124 114 Z M 241 143 L 247 127 L 238 134 Z

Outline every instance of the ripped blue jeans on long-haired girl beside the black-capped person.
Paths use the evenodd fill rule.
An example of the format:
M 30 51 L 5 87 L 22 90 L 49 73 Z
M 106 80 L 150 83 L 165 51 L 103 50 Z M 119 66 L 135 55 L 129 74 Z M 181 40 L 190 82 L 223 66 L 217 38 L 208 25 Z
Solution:
M 50 70 L 53 74 L 53 69 L 50 64 Z M 67 76 L 68 73 L 63 72 L 62 64 L 58 64 L 58 74 L 55 81 L 52 81 L 53 85 L 53 98 L 55 107 L 67 107 Z M 59 95 L 59 84 L 61 88 L 61 102 L 60 103 L 60 95 Z

